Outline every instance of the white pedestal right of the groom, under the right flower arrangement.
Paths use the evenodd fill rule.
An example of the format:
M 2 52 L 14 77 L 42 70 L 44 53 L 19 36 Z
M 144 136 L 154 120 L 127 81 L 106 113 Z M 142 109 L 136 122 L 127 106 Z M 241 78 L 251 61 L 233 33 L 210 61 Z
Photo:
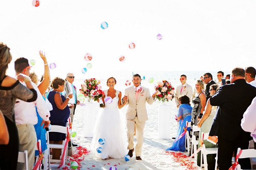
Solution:
M 170 113 L 171 105 L 158 106 L 158 137 L 159 139 L 170 139 Z

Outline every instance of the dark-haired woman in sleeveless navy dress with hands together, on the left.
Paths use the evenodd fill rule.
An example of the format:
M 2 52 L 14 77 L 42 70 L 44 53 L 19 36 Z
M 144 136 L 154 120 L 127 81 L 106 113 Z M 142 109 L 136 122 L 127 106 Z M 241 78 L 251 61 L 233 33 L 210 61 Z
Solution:
M 70 116 L 70 108 L 73 108 L 74 105 L 70 104 L 68 106 L 68 102 L 72 99 L 73 94 L 70 93 L 67 96 L 67 99 L 61 95 L 60 93 L 64 91 L 65 80 L 59 77 L 55 77 L 52 80 L 51 87 L 52 91 L 49 92 L 48 99 L 52 104 L 52 111 L 50 121 L 51 125 L 59 125 L 66 126 L 67 119 Z M 58 132 L 50 132 L 49 133 L 49 143 L 51 144 L 62 144 L 66 139 L 66 134 L 58 133 Z M 61 149 L 52 149 L 52 159 L 60 159 Z

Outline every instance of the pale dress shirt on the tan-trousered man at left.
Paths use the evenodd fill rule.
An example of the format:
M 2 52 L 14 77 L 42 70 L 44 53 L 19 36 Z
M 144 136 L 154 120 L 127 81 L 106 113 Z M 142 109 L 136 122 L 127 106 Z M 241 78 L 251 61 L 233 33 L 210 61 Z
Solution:
M 44 101 L 37 85 L 31 82 L 33 88 L 37 92 L 37 99 L 35 102 L 24 102 L 23 100 L 17 99 L 15 104 L 15 120 L 17 125 L 32 124 L 35 125 L 38 122 L 36 116 L 35 106 L 37 107 L 38 113 L 45 121 L 49 120 L 50 112 L 47 111 L 46 102 Z M 26 86 L 25 82 L 22 82 Z

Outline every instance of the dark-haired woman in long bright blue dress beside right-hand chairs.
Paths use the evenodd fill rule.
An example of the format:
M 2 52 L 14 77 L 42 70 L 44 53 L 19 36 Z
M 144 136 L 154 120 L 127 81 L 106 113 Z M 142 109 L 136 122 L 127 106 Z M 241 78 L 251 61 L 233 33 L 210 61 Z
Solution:
M 179 97 L 178 100 L 180 103 L 180 106 L 177 110 L 177 122 L 179 122 L 179 127 L 175 142 L 173 142 L 172 147 L 169 147 L 166 150 L 185 152 L 185 135 L 182 136 L 180 139 L 178 138 L 184 132 L 183 128 L 186 128 L 186 122 L 191 122 L 192 107 L 190 106 L 190 99 L 188 96 L 182 95 Z M 190 127 L 188 127 L 187 130 L 189 131 Z

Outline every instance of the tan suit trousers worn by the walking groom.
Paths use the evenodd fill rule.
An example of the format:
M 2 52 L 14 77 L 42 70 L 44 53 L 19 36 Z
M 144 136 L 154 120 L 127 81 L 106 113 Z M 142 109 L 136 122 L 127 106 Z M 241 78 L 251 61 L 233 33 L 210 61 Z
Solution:
M 134 148 L 134 133 L 136 128 L 135 153 L 136 153 L 136 156 L 141 156 L 145 122 L 139 122 L 138 117 L 135 116 L 135 118 L 132 120 L 126 120 L 126 126 L 127 126 L 127 139 L 128 139 L 127 149 L 131 150 Z

